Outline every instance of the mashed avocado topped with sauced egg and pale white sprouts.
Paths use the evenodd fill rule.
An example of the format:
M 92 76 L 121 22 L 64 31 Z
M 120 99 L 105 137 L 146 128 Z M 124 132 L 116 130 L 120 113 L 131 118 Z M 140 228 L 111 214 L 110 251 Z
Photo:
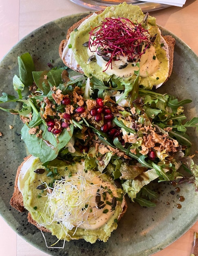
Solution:
M 24 207 L 58 239 L 106 242 L 117 228 L 123 191 L 106 174 L 84 171 L 84 162 L 33 160 L 24 183 Z

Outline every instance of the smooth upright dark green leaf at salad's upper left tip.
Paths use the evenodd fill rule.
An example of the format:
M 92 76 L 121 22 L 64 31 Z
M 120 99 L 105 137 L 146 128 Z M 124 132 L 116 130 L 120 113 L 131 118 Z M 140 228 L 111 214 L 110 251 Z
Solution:
M 35 66 L 29 52 L 26 52 L 21 56 L 18 56 L 18 64 L 19 64 L 20 80 L 25 86 L 32 85 L 33 83 L 32 72 L 35 70 Z

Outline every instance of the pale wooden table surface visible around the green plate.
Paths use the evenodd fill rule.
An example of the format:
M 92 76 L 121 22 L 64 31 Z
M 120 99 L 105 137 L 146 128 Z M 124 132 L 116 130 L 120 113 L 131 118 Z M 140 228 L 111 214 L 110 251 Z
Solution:
M 69 0 L 0 0 L 0 58 L 29 32 L 72 13 L 89 11 Z M 187 0 L 183 8 L 169 7 L 151 13 L 157 23 L 183 40 L 198 55 L 198 1 Z M 16 235 L 0 217 L 0 251 L 5 256 L 44 256 Z M 189 256 L 198 222 L 172 245 L 154 256 Z M 163 234 L 162 234 L 163 235 Z

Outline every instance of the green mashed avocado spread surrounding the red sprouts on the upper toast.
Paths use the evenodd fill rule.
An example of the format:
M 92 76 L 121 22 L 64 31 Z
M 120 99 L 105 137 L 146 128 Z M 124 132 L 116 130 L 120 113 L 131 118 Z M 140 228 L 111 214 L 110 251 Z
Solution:
M 147 21 L 143 22 L 144 14 L 139 6 L 126 4 L 125 2 L 117 6 L 107 7 L 102 13 L 93 15 L 79 29 L 70 34 L 70 47 L 84 74 L 86 76 L 93 75 L 101 81 L 108 81 L 110 78 L 119 78 L 121 81 L 134 81 L 136 78 L 134 71 L 139 69 L 136 63 L 126 63 L 126 60 L 122 59 L 123 66 L 121 68 L 114 67 L 118 65 L 120 56 L 117 56 L 119 61 L 114 61 L 113 67 L 108 67 L 107 70 L 106 62 L 103 61 L 103 58 L 100 58 L 100 61 L 97 54 L 95 54 L 96 59 L 88 61 L 93 52 L 90 52 L 90 47 L 85 47 L 84 44 L 89 41 L 91 29 L 100 26 L 105 18 L 128 18 L 134 24 L 141 24 L 141 27 L 148 32 L 150 38 L 155 38 L 151 47 L 146 50 L 145 54 L 142 54 L 139 60 L 139 84 L 143 85 L 144 88 L 152 89 L 154 85 L 163 83 L 167 79 L 169 70 L 169 59 L 166 52 L 168 47 L 156 25 L 156 19 L 149 16 Z M 119 32 L 115 31 L 116 33 L 118 36 L 120 35 Z

